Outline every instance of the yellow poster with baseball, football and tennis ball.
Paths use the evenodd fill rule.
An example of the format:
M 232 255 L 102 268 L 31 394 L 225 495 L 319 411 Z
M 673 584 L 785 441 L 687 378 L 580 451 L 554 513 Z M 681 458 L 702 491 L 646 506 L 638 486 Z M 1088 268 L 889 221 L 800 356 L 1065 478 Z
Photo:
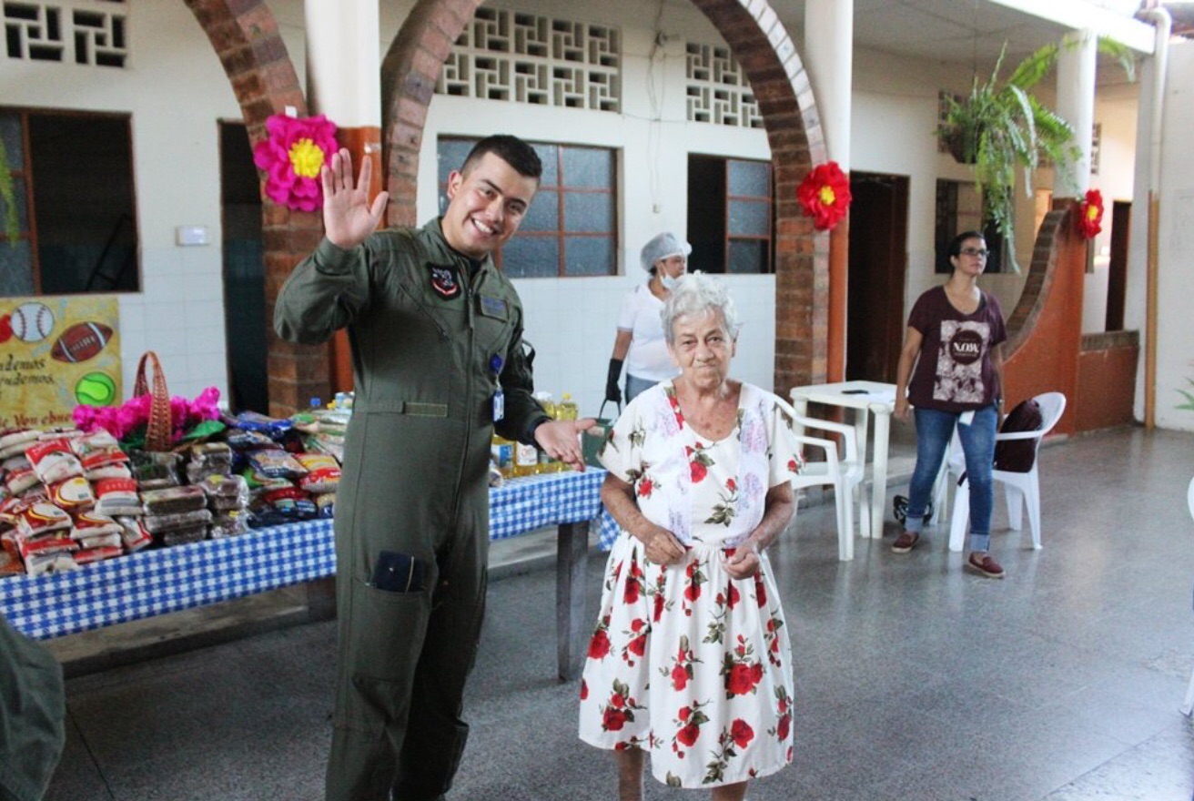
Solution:
M 123 398 L 113 295 L 0 297 L 0 430 L 70 426 L 79 403 Z

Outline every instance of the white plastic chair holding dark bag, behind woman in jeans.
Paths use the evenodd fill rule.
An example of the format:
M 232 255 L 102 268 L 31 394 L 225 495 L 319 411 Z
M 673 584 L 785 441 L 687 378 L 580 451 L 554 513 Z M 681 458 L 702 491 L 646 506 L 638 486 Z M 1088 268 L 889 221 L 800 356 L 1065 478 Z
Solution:
M 1021 529 L 1022 513 L 1024 506 L 1028 507 L 1028 528 L 1033 534 L 1033 549 L 1041 547 L 1041 489 L 1038 470 L 1041 439 L 1045 438 L 1065 412 L 1065 395 L 1061 393 L 1042 393 L 1034 400 L 1041 407 L 1041 427 L 1036 431 L 1013 431 L 995 435 L 995 442 L 1008 442 L 1011 439 L 1035 439 L 1033 452 L 1033 467 L 1027 473 L 1011 473 L 1009 470 L 992 470 L 991 477 L 1003 485 L 1004 498 L 1008 503 L 1008 526 L 1015 531 Z M 954 456 L 954 450 L 958 457 Z M 949 472 L 956 469 L 958 460 L 961 460 L 965 470 L 965 456 L 961 451 L 961 440 L 958 432 L 954 432 L 950 443 Z M 954 513 L 949 522 L 949 550 L 961 550 L 966 540 L 966 531 L 970 528 L 970 482 L 961 481 L 954 491 Z

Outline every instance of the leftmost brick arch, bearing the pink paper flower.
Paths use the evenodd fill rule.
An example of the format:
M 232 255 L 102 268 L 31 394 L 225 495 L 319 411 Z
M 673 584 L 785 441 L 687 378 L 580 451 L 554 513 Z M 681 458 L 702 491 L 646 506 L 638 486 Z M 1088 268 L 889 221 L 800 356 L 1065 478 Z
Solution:
M 294 106 L 307 115 L 307 99 L 294 62 L 278 32 L 278 23 L 265 0 L 184 0 L 223 64 L 250 144 L 266 137 L 265 121 Z M 264 181 L 264 175 L 263 175 Z M 315 249 L 324 235 L 318 212 L 291 211 L 265 198 L 263 183 L 261 233 L 265 249 L 265 315 L 273 319 L 273 301 L 298 261 Z M 289 415 L 312 398 L 328 393 L 328 358 L 324 346 L 279 340 L 267 325 L 270 412 Z

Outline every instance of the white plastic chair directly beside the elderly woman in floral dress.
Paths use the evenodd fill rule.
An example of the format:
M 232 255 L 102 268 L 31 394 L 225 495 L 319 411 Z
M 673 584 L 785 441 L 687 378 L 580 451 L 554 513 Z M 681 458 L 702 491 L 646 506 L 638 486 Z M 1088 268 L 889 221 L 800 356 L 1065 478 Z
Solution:
M 860 506 L 866 506 L 867 503 L 862 493 L 863 466 L 857 458 L 858 446 L 854 426 L 798 414 L 796 409 L 778 395 L 775 396 L 775 401 L 792 417 L 796 426 L 842 435 L 841 451 L 837 443 L 831 439 L 810 437 L 805 433 L 795 435 L 798 444 L 819 448 L 825 454 L 825 461 L 806 461 L 804 470 L 792 476 L 792 488 L 799 492 L 805 487 L 833 487 L 833 503 L 837 506 L 837 557 L 848 562 L 854 559 L 855 494 L 858 495 Z M 861 515 L 864 515 L 864 510 L 860 512 Z

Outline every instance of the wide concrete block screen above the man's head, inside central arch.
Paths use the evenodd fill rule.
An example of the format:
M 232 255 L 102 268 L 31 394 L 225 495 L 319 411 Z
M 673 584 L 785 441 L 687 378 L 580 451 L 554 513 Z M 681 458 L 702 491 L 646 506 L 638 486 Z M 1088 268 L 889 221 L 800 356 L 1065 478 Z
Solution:
M 482 6 L 453 47 L 436 92 L 616 112 L 621 66 L 616 29 Z

